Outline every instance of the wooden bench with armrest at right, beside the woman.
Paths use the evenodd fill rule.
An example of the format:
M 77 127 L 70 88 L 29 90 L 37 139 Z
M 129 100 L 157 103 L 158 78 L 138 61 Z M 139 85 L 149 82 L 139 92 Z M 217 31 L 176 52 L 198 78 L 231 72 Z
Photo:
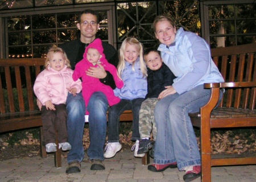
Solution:
M 201 181 L 211 181 L 212 166 L 256 164 L 255 155 L 245 158 L 214 158 L 210 150 L 210 130 L 256 126 L 256 44 L 212 49 L 214 63 L 225 83 L 205 83 L 212 91 L 209 102 L 199 113 L 191 113 L 192 125 L 200 128 Z M 221 104 L 220 89 L 225 88 Z

